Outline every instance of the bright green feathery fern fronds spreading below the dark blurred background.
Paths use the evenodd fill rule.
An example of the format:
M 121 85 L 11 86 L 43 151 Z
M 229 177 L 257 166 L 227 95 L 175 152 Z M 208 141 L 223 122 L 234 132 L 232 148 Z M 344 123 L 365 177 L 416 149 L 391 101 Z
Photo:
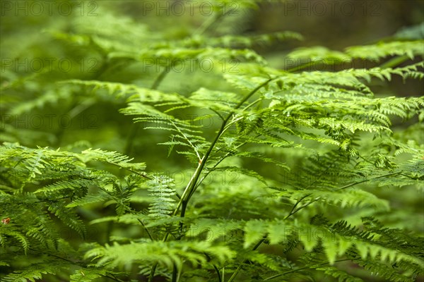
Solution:
M 237 31 L 259 2 L 211 1 L 198 29 L 105 4 L 49 23 L 51 50 L 28 39 L 98 68 L 1 73 L 1 281 L 423 276 L 424 99 L 389 88 L 423 79 L 423 40 L 295 49 L 282 70 L 256 48 L 301 35 Z M 80 126 L 22 125 L 43 113 Z

